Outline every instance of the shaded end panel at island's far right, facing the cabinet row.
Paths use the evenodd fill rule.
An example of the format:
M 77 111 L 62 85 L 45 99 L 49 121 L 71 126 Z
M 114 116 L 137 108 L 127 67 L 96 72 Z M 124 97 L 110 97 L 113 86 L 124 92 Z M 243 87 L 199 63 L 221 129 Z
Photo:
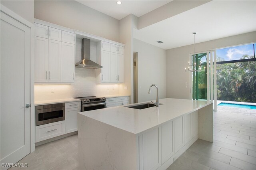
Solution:
M 198 137 L 213 142 L 213 107 L 212 103 L 198 110 Z

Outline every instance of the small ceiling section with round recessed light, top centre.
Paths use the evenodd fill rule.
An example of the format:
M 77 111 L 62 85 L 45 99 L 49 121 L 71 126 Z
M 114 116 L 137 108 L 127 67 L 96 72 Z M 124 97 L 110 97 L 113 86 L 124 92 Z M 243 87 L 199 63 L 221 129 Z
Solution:
M 118 0 L 76 0 L 94 10 L 100 11 L 117 20 L 134 14 L 140 17 L 160 6 L 163 6 L 171 0 L 121 0 L 122 4 L 118 5 Z

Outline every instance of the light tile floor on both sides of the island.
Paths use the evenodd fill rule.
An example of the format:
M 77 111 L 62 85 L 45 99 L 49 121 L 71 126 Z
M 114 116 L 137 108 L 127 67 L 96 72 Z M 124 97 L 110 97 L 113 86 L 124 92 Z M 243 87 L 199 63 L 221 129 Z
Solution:
M 168 170 L 256 170 L 256 110 L 218 106 L 214 142 L 198 139 Z M 78 169 L 77 134 L 37 146 L 22 170 Z M 18 168 L 10 168 L 18 169 Z

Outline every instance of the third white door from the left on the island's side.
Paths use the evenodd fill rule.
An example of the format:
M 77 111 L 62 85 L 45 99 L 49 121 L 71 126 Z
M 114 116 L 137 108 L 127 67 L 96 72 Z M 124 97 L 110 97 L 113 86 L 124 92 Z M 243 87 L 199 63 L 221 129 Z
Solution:
M 174 120 L 174 151 L 175 153 L 182 148 L 183 140 L 183 117 Z

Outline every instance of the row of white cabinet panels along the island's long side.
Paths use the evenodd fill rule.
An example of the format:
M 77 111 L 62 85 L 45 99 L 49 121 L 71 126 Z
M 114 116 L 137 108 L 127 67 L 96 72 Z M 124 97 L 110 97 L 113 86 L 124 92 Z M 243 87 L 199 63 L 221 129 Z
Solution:
M 138 134 L 139 169 L 166 169 L 196 141 L 196 135 L 198 111 Z

